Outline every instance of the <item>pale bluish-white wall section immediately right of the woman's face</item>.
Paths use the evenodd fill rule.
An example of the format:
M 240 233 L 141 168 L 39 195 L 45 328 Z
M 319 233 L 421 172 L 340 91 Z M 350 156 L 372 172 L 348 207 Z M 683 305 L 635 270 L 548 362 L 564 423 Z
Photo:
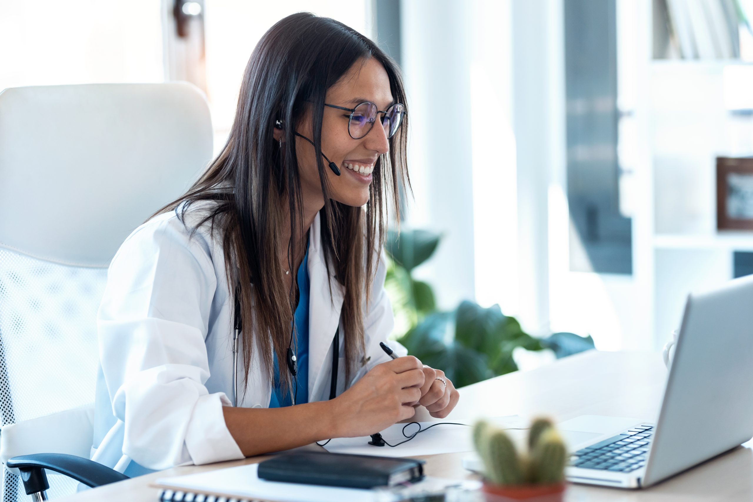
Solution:
M 415 193 L 408 225 L 444 234 L 434 257 L 416 270 L 434 286 L 441 309 L 474 299 L 471 176 L 471 17 L 465 2 L 401 2 L 402 63 Z

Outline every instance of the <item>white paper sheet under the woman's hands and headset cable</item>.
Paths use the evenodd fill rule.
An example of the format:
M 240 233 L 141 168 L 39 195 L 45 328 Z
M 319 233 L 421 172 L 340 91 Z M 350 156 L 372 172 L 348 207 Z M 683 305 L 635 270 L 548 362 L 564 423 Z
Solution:
M 509 415 L 505 417 L 487 418 L 488 421 L 497 425 L 498 427 L 515 427 L 522 428 L 527 427 L 521 423 L 518 415 Z M 450 421 L 448 419 L 447 421 Z M 472 425 L 474 421 L 468 420 L 452 420 L 467 425 L 450 425 L 441 424 L 436 427 L 431 427 L 428 431 L 420 432 L 416 434 L 412 440 L 407 443 L 395 446 L 372 446 L 368 444 L 371 437 L 340 437 L 331 440 L 326 446 L 328 452 L 332 453 L 352 453 L 355 455 L 377 455 L 382 457 L 415 457 L 419 455 L 437 455 L 440 453 L 458 453 L 458 452 L 471 452 L 474 449 L 473 440 L 471 438 L 471 429 L 469 425 Z M 437 421 L 422 421 L 419 422 L 421 428 L 429 427 L 440 422 Z M 380 431 L 383 439 L 391 444 L 396 445 L 401 441 L 407 440 L 407 437 L 403 435 L 403 427 L 405 424 L 395 424 L 387 427 L 384 431 Z M 410 436 L 413 432 L 418 430 L 418 425 L 411 424 L 405 429 L 405 434 Z M 517 437 L 523 437 L 526 431 L 508 431 L 510 436 L 515 440 Z M 520 433 L 520 434 L 518 434 Z

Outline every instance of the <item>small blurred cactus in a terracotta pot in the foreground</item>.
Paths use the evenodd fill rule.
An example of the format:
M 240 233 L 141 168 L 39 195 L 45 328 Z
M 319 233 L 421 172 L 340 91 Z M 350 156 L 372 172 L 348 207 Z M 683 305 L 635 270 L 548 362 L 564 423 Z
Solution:
M 504 430 L 487 421 L 477 421 L 473 439 L 483 461 L 483 493 L 487 502 L 562 500 L 567 449 L 548 418 L 533 421 L 527 449 L 521 452 Z

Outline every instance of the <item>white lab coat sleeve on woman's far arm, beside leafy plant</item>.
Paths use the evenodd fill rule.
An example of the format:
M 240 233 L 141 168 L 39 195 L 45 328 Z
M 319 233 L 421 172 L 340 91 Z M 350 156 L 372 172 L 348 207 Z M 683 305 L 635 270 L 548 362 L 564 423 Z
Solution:
M 407 349 L 395 340 L 387 337 L 395 327 L 395 318 L 392 315 L 392 303 L 389 301 L 384 288 L 384 279 L 387 276 L 387 259 L 385 251 L 381 251 L 377 275 L 371 287 L 370 306 L 367 309 L 366 321 L 364 322 L 364 343 L 366 349 L 367 364 L 358 372 L 358 376 L 370 371 L 377 364 L 385 363 L 390 357 L 380 347 L 380 342 L 386 343 L 395 355 L 403 357 L 408 354 Z

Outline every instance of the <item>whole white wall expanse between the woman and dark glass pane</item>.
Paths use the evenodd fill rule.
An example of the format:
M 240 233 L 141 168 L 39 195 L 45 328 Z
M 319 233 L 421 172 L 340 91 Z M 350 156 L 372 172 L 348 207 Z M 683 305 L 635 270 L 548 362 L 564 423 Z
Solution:
M 498 303 L 532 333 L 547 328 L 547 187 L 560 157 L 550 144 L 563 141 L 544 126 L 556 114 L 555 1 L 416 0 L 401 11 L 416 195 L 407 223 L 444 233 L 416 275 L 441 308 Z

